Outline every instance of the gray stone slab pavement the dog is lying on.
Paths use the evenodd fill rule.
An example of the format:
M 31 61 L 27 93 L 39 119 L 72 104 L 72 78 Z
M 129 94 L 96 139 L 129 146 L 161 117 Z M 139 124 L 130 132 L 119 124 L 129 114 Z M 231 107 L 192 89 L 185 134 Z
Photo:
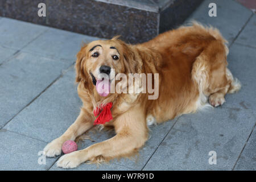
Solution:
M 208 16 L 210 2 L 217 17 Z M 242 89 L 215 109 L 151 126 L 137 159 L 81 164 L 75 170 L 255 170 L 256 15 L 233 0 L 205 0 L 188 19 L 220 29 L 229 40 L 229 69 Z M 187 22 L 188 22 L 187 20 Z M 73 65 L 86 35 L 0 17 L 0 170 L 66 170 L 38 152 L 79 114 Z M 113 133 L 89 132 L 100 142 Z M 79 143 L 79 149 L 93 144 Z M 216 151 L 217 164 L 208 155 Z M 74 169 L 69 169 L 74 170 Z

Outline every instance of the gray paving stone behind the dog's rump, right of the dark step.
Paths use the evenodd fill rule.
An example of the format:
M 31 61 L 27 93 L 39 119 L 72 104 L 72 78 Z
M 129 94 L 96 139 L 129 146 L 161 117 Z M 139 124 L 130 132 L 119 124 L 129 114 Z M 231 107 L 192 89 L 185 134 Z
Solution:
M 210 10 L 208 7 L 209 3 L 216 3 L 216 17 L 210 17 L 208 15 L 208 11 Z M 251 14 L 252 12 L 250 10 L 233 0 L 205 0 L 196 11 L 189 16 L 186 22 L 195 19 L 203 24 L 210 24 L 213 27 L 217 27 L 228 42 L 231 43 L 250 18 Z

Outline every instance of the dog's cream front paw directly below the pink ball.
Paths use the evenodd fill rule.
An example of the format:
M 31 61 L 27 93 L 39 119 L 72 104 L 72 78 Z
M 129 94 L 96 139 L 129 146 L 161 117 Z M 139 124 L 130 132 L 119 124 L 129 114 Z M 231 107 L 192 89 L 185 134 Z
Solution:
M 79 151 L 75 151 L 61 156 L 61 158 L 57 161 L 57 167 L 75 168 L 79 166 L 79 164 L 82 163 L 82 160 L 79 158 L 78 153 Z

